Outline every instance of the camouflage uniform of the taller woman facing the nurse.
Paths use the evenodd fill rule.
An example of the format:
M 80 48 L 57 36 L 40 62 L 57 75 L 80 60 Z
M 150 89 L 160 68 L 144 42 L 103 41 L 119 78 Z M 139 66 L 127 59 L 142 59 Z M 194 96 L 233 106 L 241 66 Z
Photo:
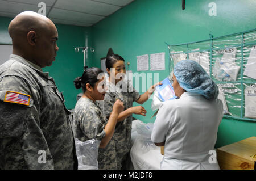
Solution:
M 128 82 L 127 85 L 123 82 L 123 85 L 121 84 L 120 89 L 118 86 L 110 83 L 108 81 L 108 78 L 106 80 L 108 92 L 106 92 L 104 100 L 97 101 L 97 104 L 101 107 L 104 115 L 106 117 L 110 116 L 115 100 L 117 99 L 122 100 L 123 106 L 125 107 L 124 111 L 127 110 L 127 108 L 133 107 L 133 102 L 138 100 L 140 95 L 134 89 L 131 83 Z M 125 88 L 123 88 L 122 86 L 125 86 Z M 125 91 L 121 92 L 121 90 Z M 129 153 L 131 148 L 132 117 L 132 115 L 128 116 L 125 120 L 118 122 L 115 126 L 113 139 L 115 141 L 115 151 L 117 152 L 118 169 L 122 168 L 122 162 L 127 159 L 127 154 Z

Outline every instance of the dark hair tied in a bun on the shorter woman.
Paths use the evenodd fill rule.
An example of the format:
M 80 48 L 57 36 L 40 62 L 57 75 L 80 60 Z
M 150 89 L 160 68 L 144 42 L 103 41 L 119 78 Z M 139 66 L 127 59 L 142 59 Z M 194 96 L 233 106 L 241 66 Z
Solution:
M 86 91 L 86 83 L 89 83 L 90 86 L 94 87 L 96 82 L 98 82 L 98 74 L 103 73 L 103 71 L 99 68 L 89 68 L 85 69 L 82 77 L 77 77 L 75 81 L 73 81 L 76 89 L 80 89 L 82 87 L 82 91 Z

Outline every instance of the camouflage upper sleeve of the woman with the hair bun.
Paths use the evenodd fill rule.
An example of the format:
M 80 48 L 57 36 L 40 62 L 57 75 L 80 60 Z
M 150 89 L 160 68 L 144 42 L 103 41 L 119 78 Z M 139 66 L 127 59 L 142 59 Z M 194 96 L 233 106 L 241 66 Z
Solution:
M 105 124 L 102 123 L 100 115 L 93 109 L 83 112 L 80 127 L 89 139 L 102 140 L 105 137 Z

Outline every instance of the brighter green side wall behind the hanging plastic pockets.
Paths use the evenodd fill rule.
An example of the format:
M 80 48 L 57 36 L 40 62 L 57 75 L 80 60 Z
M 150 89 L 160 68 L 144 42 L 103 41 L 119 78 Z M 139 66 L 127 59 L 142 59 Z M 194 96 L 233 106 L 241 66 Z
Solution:
M 209 16 L 210 2 L 217 5 L 217 16 Z M 111 47 L 115 54 L 120 54 L 131 65 L 129 70 L 137 72 L 136 56 L 152 53 L 166 53 L 166 70 L 142 71 L 159 73 L 159 79 L 168 76 L 169 44 L 191 41 L 242 32 L 256 28 L 256 1 L 242 0 L 190 0 L 186 1 L 185 10 L 181 1 L 137 0 L 95 24 L 93 28 L 93 66 L 100 67 L 100 58 L 105 57 Z M 127 68 L 127 66 L 126 66 Z M 141 72 L 139 72 L 141 73 Z M 138 106 L 134 103 L 134 106 Z M 143 106 L 147 116 L 133 115 L 144 122 L 150 119 L 151 100 Z M 216 147 L 231 144 L 244 138 L 256 136 L 256 122 L 223 119 L 218 131 Z

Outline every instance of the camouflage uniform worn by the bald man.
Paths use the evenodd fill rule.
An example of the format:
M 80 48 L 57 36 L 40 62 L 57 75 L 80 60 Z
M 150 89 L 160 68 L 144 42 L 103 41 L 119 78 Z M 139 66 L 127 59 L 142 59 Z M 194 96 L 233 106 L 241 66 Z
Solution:
M 28 105 L 6 102 L 8 91 L 30 96 Z M 0 169 L 77 167 L 63 95 L 39 66 L 16 55 L 0 66 L 0 112 Z

